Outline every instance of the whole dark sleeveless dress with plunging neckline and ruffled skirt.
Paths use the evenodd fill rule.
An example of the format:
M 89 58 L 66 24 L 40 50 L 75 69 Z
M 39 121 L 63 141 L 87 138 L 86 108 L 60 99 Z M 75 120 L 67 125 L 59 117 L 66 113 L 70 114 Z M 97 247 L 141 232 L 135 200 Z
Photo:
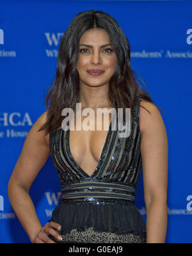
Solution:
M 49 235 L 56 243 L 146 243 L 145 221 L 135 205 L 142 162 L 139 106 L 134 110 L 129 137 L 120 138 L 118 128 L 109 125 L 91 176 L 72 157 L 70 129 L 50 133 L 50 155 L 61 182 L 61 203 L 49 220 L 61 225 L 62 241 Z

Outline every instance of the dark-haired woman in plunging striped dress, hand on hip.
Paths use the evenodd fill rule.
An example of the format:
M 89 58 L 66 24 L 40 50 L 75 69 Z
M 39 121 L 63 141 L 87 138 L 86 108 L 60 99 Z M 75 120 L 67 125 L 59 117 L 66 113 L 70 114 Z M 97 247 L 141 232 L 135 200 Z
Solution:
M 29 131 L 8 184 L 12 207 L 32 243 L 164 243 L 166 129 L 158 107 L 136 82 L 130 56 L 124 32 L 104 12 L 78 13 L 63 34 L 47 111 Z M 129 136 L 120 137 L 117 126 L 112 129 L 113 117 L 107 131 L 78 131 L 85 118 L 77 118 L 77 103 L 80 114 L 87 108 L 94 114 L 99 108 L 131 109 Z M 66 108 L 74 110 L 74 129 L 63 129 Z M 90 123 L 94 120 L 98 124 L 92 115 Z M 49 154 L 62 194 L 42 227 L 29 188 Z M 134 203 L 141 168 L 146 225 Z

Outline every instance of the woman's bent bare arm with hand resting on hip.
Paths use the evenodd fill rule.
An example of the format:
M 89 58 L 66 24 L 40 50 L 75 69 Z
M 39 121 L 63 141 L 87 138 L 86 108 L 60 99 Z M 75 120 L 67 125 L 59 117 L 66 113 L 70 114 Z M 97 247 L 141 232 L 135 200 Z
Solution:
M 44 243 L 43 241 L 45 243 L 54 243 L 49 239 L 45 231 L 51 231 L 55 236 L 56 231 L 51 226 L 55 228 L 59 226 L 57 223 L 51 223 L 49 226 L 45 225 L 46 227 L 42 228 L 29 196 L 31 184 L 49 157 L 49 134 L 45 136 L 44 130 L 38 131 L 45 123 L 46 118 L 47 112 L 44 112 L 28 132 L 22 152 L 8 182 L 8 198 L 32 243 L 34 243 L 37 234 L 41 236 L 38 239 L 39 243 Z M 41 239 L 42 241 L 40 241 Z

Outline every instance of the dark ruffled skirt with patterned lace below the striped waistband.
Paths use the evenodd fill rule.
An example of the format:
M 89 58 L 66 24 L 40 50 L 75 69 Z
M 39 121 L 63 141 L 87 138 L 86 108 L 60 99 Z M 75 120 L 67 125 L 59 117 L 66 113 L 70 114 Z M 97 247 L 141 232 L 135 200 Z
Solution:
M 56 243 L 146 243 L 145 222 L 136 205 L 113 201 L 61 203 L 49 221 L 60 223 L 61 230 L 56 231 L 63 240 L 49 237 Z

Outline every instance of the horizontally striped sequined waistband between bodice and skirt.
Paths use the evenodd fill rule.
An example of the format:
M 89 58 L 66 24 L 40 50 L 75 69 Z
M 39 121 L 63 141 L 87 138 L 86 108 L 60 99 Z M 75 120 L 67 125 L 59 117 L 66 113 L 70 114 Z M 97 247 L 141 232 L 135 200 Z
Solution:
M 136 189 L 132 186 L 108 183 L 84 181 L 61 188 L 61 201 L 72 199 L 92 200 L 96 198 L 109 198 L 116 200 L 129 200 L 134 202 Z

